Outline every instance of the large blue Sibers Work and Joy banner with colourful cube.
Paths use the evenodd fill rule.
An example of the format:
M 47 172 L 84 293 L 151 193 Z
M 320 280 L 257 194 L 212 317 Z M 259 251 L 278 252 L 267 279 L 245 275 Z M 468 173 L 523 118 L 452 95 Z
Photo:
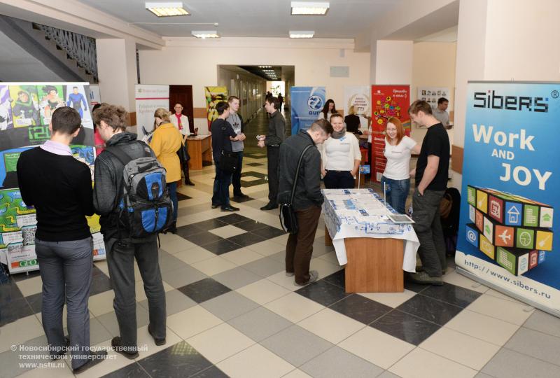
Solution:
M 455 262 L 560 316 L 560 83 L 468 83 Z

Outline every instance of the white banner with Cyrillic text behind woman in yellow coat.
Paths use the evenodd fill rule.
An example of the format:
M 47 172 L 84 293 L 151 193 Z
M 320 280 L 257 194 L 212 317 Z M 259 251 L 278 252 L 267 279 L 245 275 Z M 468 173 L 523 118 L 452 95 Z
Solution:
M 169 85 L 137 84 L 134 87 L 136 99 L 136 124 L 138 139 L 153 132 L 153 113 L 158 108 L 169 110 Z

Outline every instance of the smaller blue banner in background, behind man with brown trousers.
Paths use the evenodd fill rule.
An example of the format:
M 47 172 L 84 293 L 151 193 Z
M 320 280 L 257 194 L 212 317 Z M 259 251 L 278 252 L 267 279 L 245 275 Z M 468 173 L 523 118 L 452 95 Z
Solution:
M 325 106 L 325 87 L 290 87 L 292 135 L 307 130 Z

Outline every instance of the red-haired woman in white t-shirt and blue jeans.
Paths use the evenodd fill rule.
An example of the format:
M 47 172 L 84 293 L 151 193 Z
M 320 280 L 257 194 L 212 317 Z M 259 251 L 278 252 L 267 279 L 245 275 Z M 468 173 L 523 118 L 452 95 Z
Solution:
M 400 214 L 405 214 L 410 190 L 410 155 L 420 153 L 420 147 L 414 139 L 405 135 L 398 118 L 389 118 L 383 151 L 387 164 L 381 177 L 381 190 L 385 190 L 387 203 Z

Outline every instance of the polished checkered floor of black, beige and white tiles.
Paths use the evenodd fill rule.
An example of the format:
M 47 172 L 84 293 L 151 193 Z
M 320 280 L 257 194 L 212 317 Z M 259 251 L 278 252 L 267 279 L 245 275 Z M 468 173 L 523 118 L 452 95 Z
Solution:
M 259 113 L 248 129 L 260 134 L 266 123 Z M 294 286 L 278 214 L 259 209 L 265 151 L 246 152 L 250 198 L 233 203 L 238 213 L 211 209 L 213 167 L 192 171 L 196 186 L 179 188 L 179 232 L 162 235 L 160 248 L 167 344 L 148 334 L 137 271 L 139 358 L 110 351 L 80 377 L 560 377 L 560 319 L 461 276 L 452 263 L 441 287 L 346 294 L 321 220 L 311 260 L 320 279 Z M 91 344 L 109 346 L 118 325 L 105 261 L 94 262 L 93 276 Z M 45 342 L 40 276 L 11 276 L 0 286 L 0 378 L 71 377 L 68 360 L 22 365 L 48 363 L 20 351 Z

